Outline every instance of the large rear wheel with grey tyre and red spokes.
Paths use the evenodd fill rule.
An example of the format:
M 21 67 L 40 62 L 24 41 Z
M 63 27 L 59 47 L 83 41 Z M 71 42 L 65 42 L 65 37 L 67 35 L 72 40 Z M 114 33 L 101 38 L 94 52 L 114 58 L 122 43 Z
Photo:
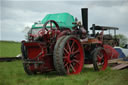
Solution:
M 83 48 L 76 37 L 59 38 L 54 48 L 54 67 L 61 75 L 78 74 L 84 64 Z

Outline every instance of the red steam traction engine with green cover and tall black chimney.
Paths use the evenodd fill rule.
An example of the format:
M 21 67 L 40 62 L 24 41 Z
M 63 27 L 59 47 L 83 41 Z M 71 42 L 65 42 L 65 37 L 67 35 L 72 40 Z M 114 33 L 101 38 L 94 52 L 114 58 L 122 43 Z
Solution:
M 87 10 L 82 9 L 83 25 L 68 13 L 48 14 L 33 24 L 21 46 L 27 74 L 78 74 L 84 63 L 93 63 L 95 70 L 106 69 L 108 55 L 102 40 L 88 33 Z

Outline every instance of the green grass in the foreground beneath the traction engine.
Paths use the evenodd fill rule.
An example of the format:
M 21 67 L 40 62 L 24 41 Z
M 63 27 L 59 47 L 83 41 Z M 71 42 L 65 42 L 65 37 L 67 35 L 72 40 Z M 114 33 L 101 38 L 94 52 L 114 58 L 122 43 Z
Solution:
M 27 75 L 21 61 L 0 62 L 0 85 L 128 85 L 128 69 L 95 72 L 84 68 L 78 75 L 59 76 L 56 72 Z

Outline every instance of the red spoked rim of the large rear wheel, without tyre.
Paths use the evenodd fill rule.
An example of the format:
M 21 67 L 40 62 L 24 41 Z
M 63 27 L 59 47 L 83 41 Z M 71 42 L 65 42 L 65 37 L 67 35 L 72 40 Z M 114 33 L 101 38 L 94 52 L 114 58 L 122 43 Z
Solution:
M 81 72 L 84 55 L 78 40 L 74 38 L 67 40 L 64 46 L 63 61 L 67 74 L 78 74 Z

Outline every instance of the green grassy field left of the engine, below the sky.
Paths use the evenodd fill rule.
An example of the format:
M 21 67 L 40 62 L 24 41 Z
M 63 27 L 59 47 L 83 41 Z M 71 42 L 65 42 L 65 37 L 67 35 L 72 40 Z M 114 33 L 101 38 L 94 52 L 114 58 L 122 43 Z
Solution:
M 20 43 L 0 41 L 0 57 L 14 57 L 21 53 Z

